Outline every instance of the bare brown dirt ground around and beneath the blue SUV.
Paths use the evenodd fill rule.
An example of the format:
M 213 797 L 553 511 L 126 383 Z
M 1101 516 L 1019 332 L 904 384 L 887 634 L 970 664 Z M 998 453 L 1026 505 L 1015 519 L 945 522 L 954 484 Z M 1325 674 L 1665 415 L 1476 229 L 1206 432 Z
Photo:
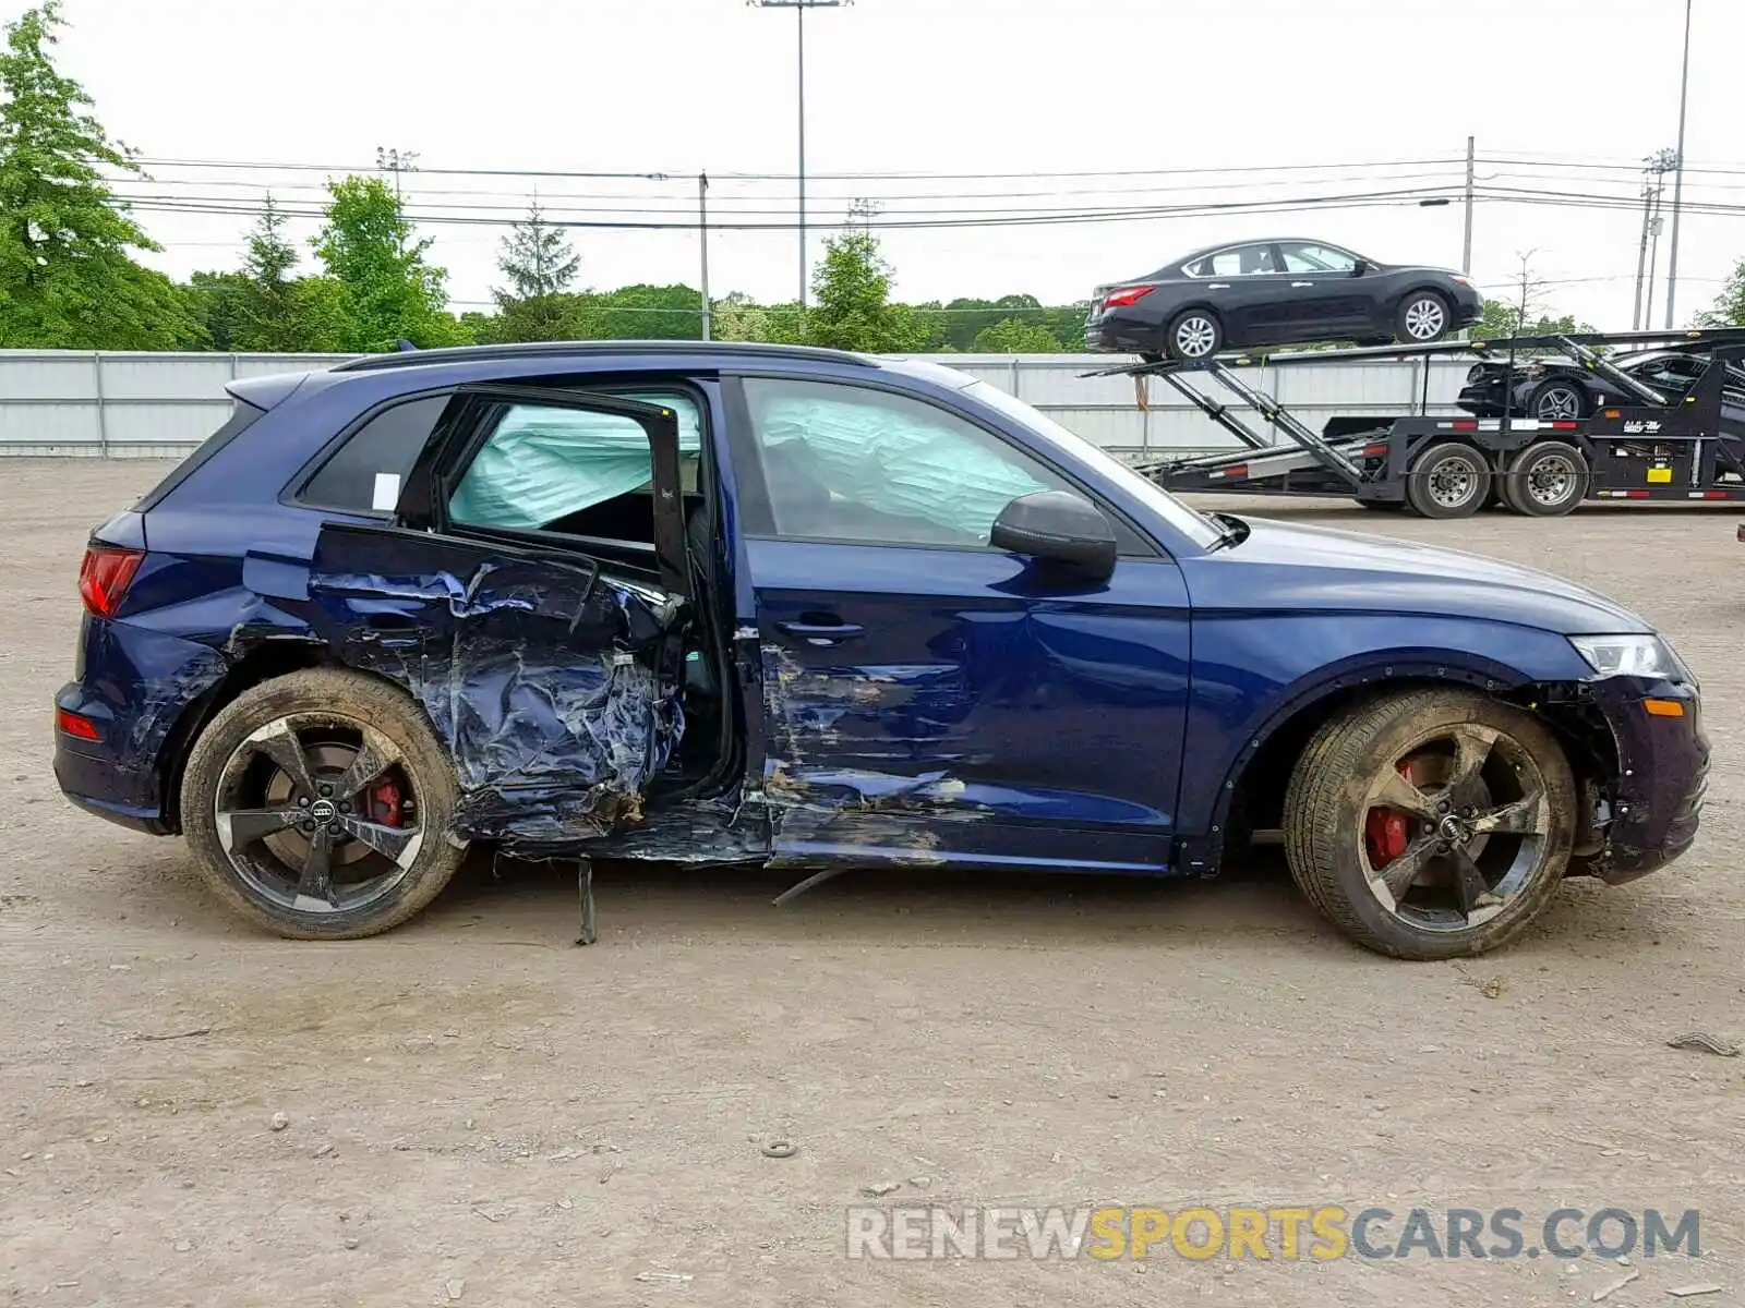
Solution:
M 597 949 L 569 882 L 478 869 L 408 928 L 312 945 L 232 921 L 180 841 L 84 816 L 49 769 L 86 530 L 161 473 L 0 464 L 0 1299 L 1394 1308 L 1628 1275 L 850 1261 L 845 1207 L 897 1181 L 883 1202 L 1515 1207 L 1529 1233 L 1560 1205 L 1696 1207 L 1701 1259 L 1639 1256 L 1607 1303 L 1745 1303 L 1745 1059 L 1665 1043 L 1745 1036 L 1733 514 L 1220 502 L 1562 572 L 1703 678 L 1696 849 L 1567 884 L 1485 959 L 1359 952 L 1265 860 L 1197 884 L 869 872 L 785 909 L 777 875 L 609 867 Z M 763 1156 L 778 1137 L 797 1155 Z

